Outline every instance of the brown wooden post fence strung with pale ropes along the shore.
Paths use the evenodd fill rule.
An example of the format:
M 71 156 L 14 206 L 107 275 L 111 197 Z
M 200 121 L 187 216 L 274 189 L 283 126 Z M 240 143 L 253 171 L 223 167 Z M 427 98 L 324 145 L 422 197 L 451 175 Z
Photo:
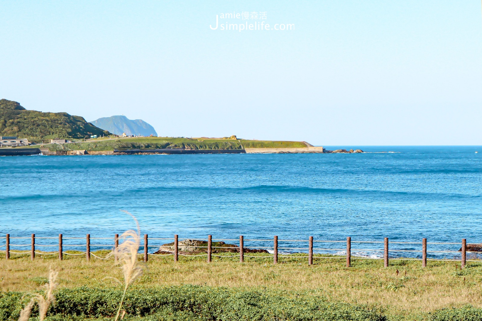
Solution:
M 63 255 L 71 255 L 71 256 L 80 256 L 80 255 L 85 255 L 87 261 L 90 260 L 91 256 L 101 259 L 101 260 L 107 260 L 111 256 L 114 256 L 115 260 L 118 260 L 118 257 L 115 254 L 115 250 L 119 246 L 119 234 L 115 234 L 114 238 L 91 238 L 90 234 L 87 234 L 85 238 L 80 238 L 80 237 L 63 237 L 62 234 L 59 234 L 58 236 L 58 245 L 57 244 L 39 244 L 36 241 L 38 240 L 55 240 L 57 239 L 56 237 L 35 237 L 35 234 L 32 234 L 31 237 L 11 237 L 10 234 L 6 234 L 5 237 L 0 237 L 0 242 L 3 241 L 4 244 L 0 245 L 0 248 L 5 247 L 4 250 L 0 250 L 1 253 L 5 253 L 5 258 L 10 259 L 10 254 L 30 254 L 31 259 L 35 259 L 35 255 L 55 255 L 58 254 L 59 260 L 63 260 Z M 30 240 L 30 244 L 24 243 L 25 241 L 21 241 L 23 244 L 12 244 L 11 240 Z M 83 242 L 76 242 L 77 244 L 64 244 L 64 240 L 85 240 L 85 243 Z M 112 244 L 91 244 L 91 241 L 95 240 L 113 240 L 114 242 Z M 469 254 L 482 254 L 482 252 L 477 252 L 477 251 L 470 251 L 467 248 L 467 240 L 462 239 L 462 242 L 427 242 L 427 239 L 422 239 L 422 242 L 402 242 L 402 241 L 388 241 L 388 238 L 385 238 L 384 241 L 351 241 L 351 238 L 348 237 L 346 241 L 328 241 L 328 240 L 313 240 L 313 237 L 309 237 L 308 240 L 281 240 L 278 239 L 277 236 L 275 236 L 273 239 L 247 239 L 244 240 L 243 236 L 241 235 L 239 238 L 239 244 L 228 244 L 229 246 L 214 246 L 213 241 L 238 241 L 238 239 L 213 239 L 211 235 L 208 235 L 207 239 L 179 239 L 178 235 L 174 235 L 174 238 L 150 238 L 151 241 L 160 241 L 160 240 L 174 240 L 172 243 L 168 243 L 166 245 L 149 245 L 148 244 L 148 236 L 147 234 L 144 235 L 144 238 L 134 238 L 134 240 L 139 242 L 139 247 L 144 248 L 144 252 L 137 253 L 136 256 L 143 255 L 144 256 L 144 261 L 148 260 L 149 256 L 174 256 L 174 261 L 178 261 L 179 255 L 185 256 L 185 257 L 199 257 L 199 256 L 207 256 L 207 262 L 211 262 L 212 257 L 239 257 L 240 262 L 244 262 L 244 257 L 249 257 L 249 258 L 273 258 L 273 263 L 278 263 L 278 258 L 292 258 L 292 259 L 304 259 L 308 258 L 308 264 L 312 265 L 313 264 L 313 258 L 315 259 L 345 259 L 346 257 L 346 262 L 347 262 L 347 267 L 351 266 L 351 254 L 357 254 L 358 256 L 353 256 L 353 259 L 372 259 L 372 260 L 384 260 L 384 265 L 385 267 L 388 267 L 388 261 L 389 260 L 412 260 L 412 261 L 422 261 L 422 267 L 426 267 L 427 261 L 455 261 L 455 262 L 460 262 L 460 267 L 464 268 L 467 262 L 481 262 L 480 260 L 473 259 L 474 257 L 477 258 L 477 256 L 471 256 L 472 259 L 467 259 L 467 253 Z M 143 241 L 142 241 L 143 240 Z M 204 242 L 204 244 L 200 244 L 199 246 L 195 245 L 184 245 L 184 244 L 179 244 L 179 241 L 207 241 Z M 245 247 L 244 247 L 244 241 L 251 241 L 251 242 L 272 242 L 273 246 L 250 246 L 248 249 L 248 253 L 250 252 L 250 249 L 253 249 L 254 251 L 256 250 L 272 250 L 271 252 L 264 251 L 265 254 L 267 255 L 249 255 L 245 254 Z M 307 242 L 308 247 L 279 247 L 279 242 Z M 331 248 L 331 247 L 322 247 L 322 248 L 317 248 L 313 247 L 313 243 L 346 243 L 347 247 L 345 248 Z M 80 244 L 79 244 L 80 243 Z M 104 242 L 107 243 L 107 242 Z M 365 244 L 384 244 L 383 249 L 360 249 L 360 248 L 351 248 L 351 243 L 365 243 Z M 192 243 L 191 243 L 192 244 Z M 415 247 L 408 247 L 405 249 L 389 249 L 388 245 L 389 244 L 417 244 L 417 245 L 422 245 L 422 249 L 418 248 L 416 249 Z M 428 244 L 434 244 L 434 245 L 460 245 L 461 248 L 458 251 L 449 251 L 449 250 L 443 250 L 443 251 L 436 251 L 436 250 L 427 250 L 427 245 Z M 181 248 L 189 248 L 189 249 L 194 249 L 192 251 L 192 254 L 186 254 L 186 253 L 180 253 L 179 252 L 179 245 L 181 245 Z M 217 244 L 216 244 L 217 245 Z M 258 244 L 254 244 L 258 245 Z M 289 245 L 289 244 L 287 244 Z M 482 245 L 481 243 L 470 243 L 470 245 L 475 246 L 475 245 Z M 41 251 L 36 251 L 36 247 L 57 247 L 58 246 L 58 251 L 55 252 L 41 252 Z M 174 252 L 173 253 L 166 253 L 166 254 L 155 254 L 155 253 L 148 253 L 149 248 L 159 248 L 162 250 L 162 246 L 165 248 L 168 248 L 169 251 L 171 252 L 174 247 Z M 25 250 L 23 252 L 16 252 L 12 251 L 11 247 L 30 247 L 30 250 Z M 76 248 L 84 248 L 85 251 L 81 253 L 68 253 L 64 251 L 64 247 L 76 247 Z M 113 252 L 110 252 L 107 254 L 106 257 L 100 257 L 94 252 L 91 251 L 92 247 L 101 247 L 104 248 L 106 247 L 111 250 L 113 249 Z M 199 254 L 199 252 L 196 253 L 196 249 L 205 249 L 207 253 Z M 224 249 L 226 250 L 225 254 L 213 254 L 213 250 L 217 249 Z M 471 249 L 471 248 L 469 248 Z M 236 254 L 229 254 L 234 251 L 238 252 Z M 302 250 L 303 252 L 295 252 L 295 253 L 290 253 L 290 252 L 279 252 L 279 250 Z M 306 251 L 308 250 L 308 255 L 306 255 Z M 328 251 L 328 253 L 315 253 L 313 254 L 313 250 L 315 251 Z M 330 251 L 338 251 L 337 253 L 331 254 L 332 252 Z M 339 252 L 343 251 L 343 252 Z M 223 252 L 223 251 L 220 251 Z M 263 251 L 259 251 L 263 252 Z M 268 252 L 268 253 L 267 253 Z M 360 252 L 383 252 L 383 257 L 375 257 L 375 256 L 360 256 Z M 422 257 L 389 257 L 389 253 L 421 253 Z M 162 252 L 161 252 L 162 253 Z M 254 252 L 256 253 L 256 252 Z M 459 254 L 460 253 L 460 259 L 456 259 L 454 255 L 454 259 L 451 258 L 428 258 L 427 254 Z M 98 254 L 98 253 L 97 253 Z M 323 254 L 329 254 L 333 256 L 320 256 Z M 346 254 L 346 255 L 345 255 Z M 344 256 L 342 256 L 344 255 Z M 418 255 L 416 255 L 418 256 Z

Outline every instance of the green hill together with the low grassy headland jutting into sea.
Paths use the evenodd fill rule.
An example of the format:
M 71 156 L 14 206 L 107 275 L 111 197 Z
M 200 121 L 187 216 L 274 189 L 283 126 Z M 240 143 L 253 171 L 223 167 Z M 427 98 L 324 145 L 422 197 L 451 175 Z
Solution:
M 304 142 L 266 141 L 224 138 L 185 137 L 109 137 L 111 133 L 102 130 L 80 116 L 67 113 L 49 113 L 27 110 L 19 103 L 0 99 L 0 136 L 18 136 L 42 144 L 52 138 L 76 141 L 68 144 L 44 144 L 51 151 L 111 151 L 114 149 L 243 149 L 307 147 Z M 101 138 L 89 139 L 91 135 Z M 87 141 L 84 141 L 87 139 Z M 39 147 L 35 145 L 33 147 Z

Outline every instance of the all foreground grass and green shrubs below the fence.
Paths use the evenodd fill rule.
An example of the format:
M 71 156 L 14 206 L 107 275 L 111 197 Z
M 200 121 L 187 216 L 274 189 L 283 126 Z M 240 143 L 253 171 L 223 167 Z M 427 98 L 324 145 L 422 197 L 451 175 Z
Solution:
M 75 252 L 71 252 L 75 254 Z M 99 251 L 105 257 L 108 251 Z M 223 255 L 223 254 L 220 254 Z M 146 272 L 126 294 L 124 320 L 482 320 L 482 262 L 373 259 L 150 256 Z M 256 254 L 263 256 L 264 254 Z M 0 320 L 16 320 L 28 292 L 59 271 L 57 303 L 45 320 L 112 320 L 123 287 L 113 259 L 42 255 L 0 257 Z M 23 301 L 22 301 L 23 300 Z M 17 311 L 17 312 L 15 312 Z M 36 311 L 34 310 L 34 315 Z M 3 319 L 2 319 L 3 318 Z M 110 319 L 108 319 L 110 318 Z

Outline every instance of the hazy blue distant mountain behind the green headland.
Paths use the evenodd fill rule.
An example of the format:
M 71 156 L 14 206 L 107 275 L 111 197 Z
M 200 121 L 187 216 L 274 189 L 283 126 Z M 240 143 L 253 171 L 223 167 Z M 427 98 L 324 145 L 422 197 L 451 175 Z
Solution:
M 149 136 L 150 134 L 153 134 L 154 136 L 157 136 L 154 127 L 141 119 L 130 120 L 125 116 L 118 115 L 99 118 L 98 120 L 92 121 L 92 123 L 95 126 L 116 135 L 122 135 L 122 133 L 125 133 L 127 135 Z

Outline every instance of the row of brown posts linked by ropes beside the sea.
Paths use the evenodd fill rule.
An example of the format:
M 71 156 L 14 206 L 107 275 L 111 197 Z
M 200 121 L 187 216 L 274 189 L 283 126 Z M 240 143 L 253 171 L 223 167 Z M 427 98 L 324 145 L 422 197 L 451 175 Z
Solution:
M 59 234 L 58 236 L 58 244 L 40 244 L 37 243 L 37 240 L 46 240 L 50 241 L 52 243 L 53 240 L 56 240 L 56 237 L 35 237 L 35 234 L 32 234 L 31 237 L 11 237 L 10 234 L 7 234 L 5 237 L 1 237 L 0 240 L 4 240 L 4 244 L 0 245 L 0 249 L 2 247 L 5 247 L 5 250 L 0 250 L 0 252 L 5 253 L 5 258 L 8 260 L 10 259 L 11 254 L 19 254 L 19 255 L 25 255 L 25 254 L 30 254 L 30 257 L 32 260 L 35 260 L 35 255 L 55 255 L 58 254 L 58 259 L 63 260 L 64 255 L 74 255 L 74 256 L 80 256 L 84 255 L 86 257 L 87 261 L 91 260 L 91 256 L 94 256 L 95 258 L 101 259 L 101 260 L 107 260 L 109 257 L 113 256 L 112 253 L 108 254 L 106 257 L 100 257 L 94 254 L 94 252 L 91 251 L 92 248 L 100 248 L 100 249 L 105 249 L 106 247 L 112 249 L 112 248 L 117 248 L 119 246 L 119 234 L 115 234 L 114 238 L 91 238 L 90 234 L 87 234 L 85 238 L 80 238 L 80 237 L 63 237 L 62 234 Z M 12 244 L 11 240 L 19 240 L 19 241 L 26 241 L 30 240 L 30 243 L 25 243 L 25 244 Z M 75 241 L 77 243 L 80 242 L 80 240 L 85 240 L 85 244 L 65 244 L 64 241 Z M 107 242 L 106 240 L 113 241 L 111 244 L 93 244 L 91 241 L 101 241 L 101 242 Z M 174 247 L 174 251 L 169 254 L 153 254 L 149 253 L 149 248 L 160 248 L 161 245 L 149 245 L 149 240 L 150 241 L 174 241 L 174 244 L 172 247 Z M 427 261 L 457 261 L 460 262 L 460 267 L 464 268 L 466 266 L 467 262 L 475 262 L 475 260 L 467 260 L 467 253 L 473 253 L 473 254 L 481 254 L 481 252 L 476 252 L 476 251 L 467 251 L 467 240 L 462 239 L 462 242 L 427 242 L 427 239 L 422 239 L 421 242 L 398 242 L 398 241 L 388 241 L 388 238 L 385 238 L 384 241 L 352 241 L 351 237 L 348 237 L 346 241 L 318 241 L 318 240 L 313 240 L 313 237 L 310 236 L 308 240 L 279 240 L 278 236 L 275 236 L 273 239 L 261 239 L 261 240 L 244 240 L 244 237 L 241 235 L 238 239 L 213 239 L 212 235 L 208 235 L 207 239 L 196 239 L 199 241 L 207 241 L 206 246 L 186 246 L 182 245 L 183 248 L 205 248 L 206 252 L 205 254 L 183 254 L 179 253 L 179 241 L 187 241 L 187 240 L 192 240 L 192 239 L 179 239 L 178 235 L 174 235 L 174 238 L 148 238 L 147 234 L 144 235 L 144 240 L 142 242 L 142 247 L 144 248 L 143 253 L 139 253 L 137 255 L 143 255 L 144 261 L 147 262 L 149 256 L 170 256 L 173 255 L 174 261 L 177 262 L 179 260 L 179 256 L 190 256 L 190 257 L 199 257 L 199 256 L 207 256 L 207 262 L 212 261 L 212 257 L 237 257 L 239 256 L 240 262 L 244 262 L 245 257 L 254 257 L 254 258 L 273 258 L 273 263 L 276 264 L 278 263 L 278 258 L 279 257 L 289 257 L 289 258 L 308 258 L 308 265 L 313 264 L 313 259 L 346 259 L 346 266 L 350 267 L 351 266 L 351 260 L 352 259 L 383 259 L 384 260 L 384 265 L 385 267 L 388 267 L 388 262 L 389 259 L 403 259 L 403 260 L 420 260 L 422 262 L 422 267 L 427 266 Z M 227 249 L 227 247 L 222 247 L 222 246 L 213 246 L 213 241 L 239 241 L 239 245 L 235 247 L 230 247 L 228 249 L 235 249 L 238 253 L 235 255 L 216 255 L 213 254 L 213 249 L 216 248 L 222 248 L 222 249 Z M 245 254 L 245 246 L 244 242 L 257 242 L 257 243 L 266 243 L 269 242 L 273 244 L 273 246 L 249 246 L 250 249 L 263 249 L 263 250 L 272 250 L 272 255 L 247 255 Z M 308 243 L 308 247 L 279 247 L 280 242 L 288 242 L 288 243 L 297 243 L 303 242 L 303 243 Z M 351 248 L 351 244 L 363 244 L 363 245 L 373 245 L 373 244 L 384 244 L 383 249 L 366 249 L 366 248 L 360 248 L 360 249 L 353 249 Z M 313 247 L 313 244 L 334 244 L 336 245 L 341 245 L 341 244 L 346 244 L 346 249 L 345 248 L 338 248 L 339 246 L 334 247 Z M 419 250 L 414 250 L 414 249 L 389 249 L 390 244 L 396 244 L 396 245 L 410 245 L 410 246 L 415 246 L 415 245 L 420 245 Z M 427 250 L 427 245 L 437 245 L 437 246 L 445 246 L 445 245 L 460 245 L 461 249 L 458 251 L 447 251 L 447 250 L 442 250 L 442 251 L 428 251 Z M 471 244 L 471 245 L 482 245 L 482 244 Z M 57 247 L 58 246 L 58 251 L 54 252 L 39 252 L 36 250 L 36 247 Z M 24 251 L 24 252 L 15 252 L 11 250 L 11 247 L 30 247 L 30 251 Z M 85 252 L 81 253 L 68 253 L 65 250 L 65 248 L 72 248 L 72 249 L 85 249 Z M 296 253 L 283 253 L 283 251 L 280 252 L 280 250 L 291 250 L 291 251 L 297 251 Z M 300 251 L 305 251 L 305 252 L 300 252 Z M 320 255 L 313 255 L 313 251 L 318 251 L 320 255 L 324 254 L 329 254 L 329 252 L 333 251 L 346 251 L 346 256 L 340 256 L 340 255 L 331 255 L 331 256 L 320 256 Z M 383 251 L 383 257 L 352 257 L 352 252 L 353 251 L 363 251 L 363 252 L 382 252 Z M 422 256 L 421 258 L 415 258 L 415 257 L 389 257 L 390 253 L 421 253 Z M 293 254 L 307 254 L 307 255 L 296 255 L 294 256 Z M 427 254 L 461 254 L 460 259 L 447 259 L 447 258 L 427 258 Z M 116 259 L 114 257 L 114 259 Z M 480 262 L 479 260 L 477 260 Z

